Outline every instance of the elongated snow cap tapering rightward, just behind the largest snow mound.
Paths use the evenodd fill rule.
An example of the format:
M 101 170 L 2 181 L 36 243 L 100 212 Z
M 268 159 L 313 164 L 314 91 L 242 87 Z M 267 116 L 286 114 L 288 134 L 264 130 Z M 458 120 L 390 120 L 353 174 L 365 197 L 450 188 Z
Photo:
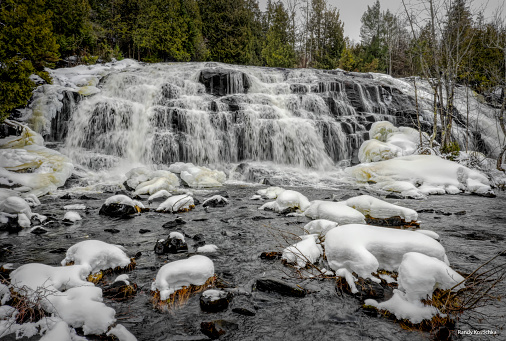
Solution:
M 399 216 L 406 222 L 412 222 L 418 219 L 418 213 L 416 213 L 415 210 L 390 204 L 386 201 L 371 197 L 370 195 L 353 197 L 344 201 L 344 203 L 371 218 L 385 219 Z

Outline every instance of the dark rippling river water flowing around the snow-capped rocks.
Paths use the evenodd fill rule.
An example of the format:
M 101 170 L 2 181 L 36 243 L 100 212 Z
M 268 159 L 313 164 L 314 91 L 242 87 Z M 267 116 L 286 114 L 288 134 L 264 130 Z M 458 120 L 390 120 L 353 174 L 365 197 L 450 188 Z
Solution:
M 4 235 L 0 246 L 12 244 L 9 252 L 0 254 L 2 263 L 16 266 L 40 262 L 58 266 L 65 257 L 65 251 L 73 244 L 86 239 L 126 247 L 129 256 L 141 252 L 137 267 L 129 273 L 130 281 L 139 286 L 133 299 L 116 302 L 105 299 L 107 305 L 116 309 L 118 323 L 122 323 L 139 340 L 206 340 L 200 331 L 203 321 L 223 319 L 237 324 L 238 328 L 223 335 L 222 340 L 427 340 L 428 333 L 409 332 L 395 322 L 385 318 L 365 315 L 361 303 L 354 297 L 336 290 L 332 280 L 300 279 L 293 269 L 280 261 L 259 258 L 263 251 L 281 251 L 294 241 L 283 238 L 286 233 L 302 234 L 302 227 L 310 221 L 305 217 L 286 217 L 273 212 L 259 211 L 264 201 L 249 198 L 259 187 L 228 185 L 223 188 L 229 195 L 230 205 L 209 208 L 208 212 L 198 205 L 180 216 L 187 222 L 182 225 L 190 236 L 200 233 L 208 244 L 215 244 L 217 253 L 206 256 L 214 261 L 220 282 L 235 292 L 231 307 L 222 313 L 205 313 L 199 307 L 199 295 L 173 312 L 159 312 L 150 302 L 150 287 L 158 269 L 165 263 L 183 259 L 188 254 L 157 255 L 153 251 L 156 240 L 166 238 L 170 229 L 163 228 L 165 222 L 175 218 L 172 214 L 145 212 L 133 219 L 117 220 L 99 216 L 103 201 L 112 194 L 88 194 L 98 200 L 63 200 L 56 196 L 41 198 L 42 205 L 34 211 L 54 214 L 63 218 L 63 206 L 84 203 L 87 211 L 79 211 L 83 220 L 71 226 L 59 225 L 48 228 L 44 235 Z M 364 194 L 363 191 L 345 188 L 342 190 L 321 190 L 294 188 L 310 200 L 327 199 L 332 195 Z M 213 191 L 196 192 L 196 198 L 203 200 Z M 147 197 L 145 197 L 147 198 Z M 487 259 L 506 247 L 506 195 L 498 193 L 497 198 L 483 198 L 471 195 L 431 196 L 426 200 L 386 199 L 391 203 L 415 210 L 436 209 L 441 212 L 420 213 L 421 228 L 437 232 L 447 251 L 451 266 L 469 273 Z M 146 199 L 143 203 L 147 205 Z M 155 208 L 158 203 L 153 204 Z M 453 213 L 465 211 L 464 215 Z M 449 214 L 450 213 L 450 214 Z M 446 215 L 445 215 L 446 214 Z M 252 219 L 253 217 L 267 219 Z M 104 232 L 117 229 L 119 233 Z M 139 230 L 150 232 L 141 234 Z M 285 232 L 285 233 L 282 233 Z M 190 253 L 193 242 L 189 240 Z M 502 257 L 504 262 L 504 257 Z M 276 277 L 300 284 L 311 290 L 304 298 L 285 297 L 276 293 L 252 291 L 257 278 Z M 105 281 L 113 281 L 110 276 Z M 103 284 L 99 284 L 103 285 Z M 506 292 L 501 284 L 500 289 Z M 232 311 L 233 307 L 252 308 L 255 316 L 243 316 Z M 481 308 L 485 315 L 464 314 L 457 329 L 490 329 L 502 333 L 495 337 L 505 340 L 500 328 L 506 321 L 506 303 L 494 302 Z M 457 339 L 489 340 L 491 336 L 457 337 Z

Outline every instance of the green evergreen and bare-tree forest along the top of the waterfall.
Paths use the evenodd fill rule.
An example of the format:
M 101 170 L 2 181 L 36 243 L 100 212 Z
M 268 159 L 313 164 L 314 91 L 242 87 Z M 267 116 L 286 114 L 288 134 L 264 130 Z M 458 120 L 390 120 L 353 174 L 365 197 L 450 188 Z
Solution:
M 0 120 L 23 107 L 44 68 L 113 58 L 143 62 L 216 61 L 285 68 L 341 68 L 420 76 L 501 93 L 506 25 L 468 0 L 379 1 L 361 19 L 360 42 L 344 35 L 326 0 L 1 0 Z M 504 10 L 504 9 L 502 9 Z M 499 89 L 499 90 L 498 90 Z M 448 89 L 447 89 L 448 90 Z

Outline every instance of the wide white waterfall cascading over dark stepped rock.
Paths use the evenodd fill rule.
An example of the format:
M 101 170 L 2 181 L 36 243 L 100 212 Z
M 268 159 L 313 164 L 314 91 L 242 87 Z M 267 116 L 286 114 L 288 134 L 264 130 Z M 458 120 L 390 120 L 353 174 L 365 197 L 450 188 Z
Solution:
M 125 161 L 331 170 L 354 157 L 373 122 L 417 121 L 410 85 L 380 75 L 124 60 L 58 69 L 53 77 L 34 101 L 37 112 L 51 110 L 44 123 L 34 107 L 33 126 L 94 170 Z M 430 99 L 419 99 L 429 130 Z

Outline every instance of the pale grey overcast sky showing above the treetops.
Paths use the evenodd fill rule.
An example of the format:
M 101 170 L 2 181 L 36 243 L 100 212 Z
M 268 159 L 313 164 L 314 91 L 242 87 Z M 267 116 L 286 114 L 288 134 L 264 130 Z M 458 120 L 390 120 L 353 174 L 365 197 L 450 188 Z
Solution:
M 406 0 L 409 3 L 414 0 Z M 474 0 L 473 8 L 485 8 L 485 16 L 492 15 L 500 4 L 505 0 Z M 341 20 L 344 23 L 344 34 L 357 42 L 360 41 L 360 18 L 367 10 L 367 6 L 372 6 L 376 0 L 328 0 L 328 3 L 339 10 Z M 265 10 L 267 0 L 259 0 L 260 8 Z M 392 13 L 403 11 L 401 0 L 383 0 L 380 1 L 381 9 L 389 9 Z M 503 8 L 503 17 L 506 17 L 506 9 Z

